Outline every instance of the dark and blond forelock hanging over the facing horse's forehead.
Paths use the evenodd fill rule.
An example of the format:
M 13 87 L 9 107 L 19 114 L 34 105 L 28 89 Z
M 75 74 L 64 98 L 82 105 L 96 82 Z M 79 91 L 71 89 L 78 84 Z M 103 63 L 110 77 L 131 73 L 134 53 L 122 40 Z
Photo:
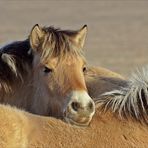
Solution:
M 76 31 L 60 30 L 53 27 L 43 28 L 43 30 L 47 33 L 47 36 L 41 47 L 42 61 L 49 57 L 64 59 L 66 55 L 83 56 L 83 50 L 69 38 L 70 35 L 76 34 Z

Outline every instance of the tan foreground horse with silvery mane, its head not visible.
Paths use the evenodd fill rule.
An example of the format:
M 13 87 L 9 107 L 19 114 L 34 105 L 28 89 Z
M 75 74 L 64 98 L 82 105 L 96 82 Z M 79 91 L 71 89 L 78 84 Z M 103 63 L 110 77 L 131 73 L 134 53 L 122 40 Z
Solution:
M 72 126 L 53 117 L 0 105 L 1 147 L 146 148 L 147 72 L 148 68 L 145 68 L 134 73 L 128 82 L 103 78 L 101 87 L 106 88 L 106 92 L 94 98 L 96 113 L 87 127 Z M 114 89 L 108 91 L 108 87 Z

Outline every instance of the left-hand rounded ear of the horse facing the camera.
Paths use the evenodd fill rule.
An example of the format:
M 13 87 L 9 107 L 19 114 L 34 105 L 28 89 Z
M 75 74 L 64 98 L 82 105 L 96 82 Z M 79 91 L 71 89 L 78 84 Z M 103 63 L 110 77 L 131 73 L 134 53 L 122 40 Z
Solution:
M 38 24 L 34 25 L 29 36 L 30 45 L 33 50 L 39 50 L 39 46 L 41 45 L 44 35 L 45 32 L 42 30 L 42 28 Z

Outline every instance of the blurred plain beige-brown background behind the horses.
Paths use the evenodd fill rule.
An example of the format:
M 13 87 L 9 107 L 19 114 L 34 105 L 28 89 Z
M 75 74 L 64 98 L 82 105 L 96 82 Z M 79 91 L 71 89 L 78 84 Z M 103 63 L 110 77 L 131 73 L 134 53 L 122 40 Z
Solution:
M 62 29 L 87 24 L 90 65 L 124 76 L 148 65 L 146 0 L 0 0 L 0 45 L 27 38 L 36 23 Z

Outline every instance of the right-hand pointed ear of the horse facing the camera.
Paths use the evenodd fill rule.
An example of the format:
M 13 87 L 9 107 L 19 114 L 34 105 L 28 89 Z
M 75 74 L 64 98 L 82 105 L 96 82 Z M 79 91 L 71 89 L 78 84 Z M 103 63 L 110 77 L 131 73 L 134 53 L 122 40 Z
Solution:
M 77 45 L 83 48 L 86 35 L 87 35 L 87 25 L 84 25 L 80 30 L 77 31 L 76 35 L 74 36 L 74 41 Z

